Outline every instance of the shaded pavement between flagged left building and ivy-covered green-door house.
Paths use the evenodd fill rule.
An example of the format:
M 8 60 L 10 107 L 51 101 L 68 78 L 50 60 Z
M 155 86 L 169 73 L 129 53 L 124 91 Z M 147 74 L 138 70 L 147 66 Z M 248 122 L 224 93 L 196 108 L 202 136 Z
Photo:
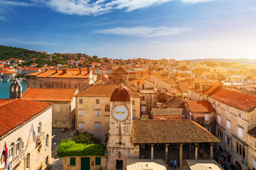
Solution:
M 62 170 L 63 162 L 62 158 L 57 157 L 57 148 L 63 139 L 71 140 L 75 134 L 75 130 L 63 132 L 63 130 L 53 129 L 52 133 L 52 164 L 50 170 Z

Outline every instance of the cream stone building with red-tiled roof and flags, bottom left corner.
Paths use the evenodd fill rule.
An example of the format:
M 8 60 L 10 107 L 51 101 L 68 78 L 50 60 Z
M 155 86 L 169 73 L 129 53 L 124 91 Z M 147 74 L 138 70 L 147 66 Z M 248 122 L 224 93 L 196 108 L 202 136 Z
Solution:
M 48 169 L 51 163 L 52 104 L 20 98 L 0 99 L 0 149 L 10 169 Z M 33 140 L 33 132 L 36 139 Z M 33 131 L 33 130 L 32 130 Z M 4 168 L 3 159 L 0 169 Z

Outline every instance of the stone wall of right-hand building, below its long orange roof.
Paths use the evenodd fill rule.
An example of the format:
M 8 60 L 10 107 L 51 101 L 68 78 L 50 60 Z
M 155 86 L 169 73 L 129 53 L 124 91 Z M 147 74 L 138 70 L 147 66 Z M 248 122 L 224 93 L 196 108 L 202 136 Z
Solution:
M 208 101 L 216 111 L 215 135 L 222 141 L 218 144 L 220 156 L 225 156 L 226 161 L 233 164 L 238 162 L 242 169 L 247 169 L 247 132 L 255 125 L 256 111 L 242 111 L 211 97 Z

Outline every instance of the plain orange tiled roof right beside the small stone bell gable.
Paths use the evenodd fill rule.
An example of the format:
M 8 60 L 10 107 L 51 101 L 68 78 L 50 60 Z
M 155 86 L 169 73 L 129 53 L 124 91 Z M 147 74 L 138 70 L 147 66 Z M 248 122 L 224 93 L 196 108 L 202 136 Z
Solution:
M 33 101 L 72 101 L 77 89 L 38 89 L 28 88 L 23 99 Z

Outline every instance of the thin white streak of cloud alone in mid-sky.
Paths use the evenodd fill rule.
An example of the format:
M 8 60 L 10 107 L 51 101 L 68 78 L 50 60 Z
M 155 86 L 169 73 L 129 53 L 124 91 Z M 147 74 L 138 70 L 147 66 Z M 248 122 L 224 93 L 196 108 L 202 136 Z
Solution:
M 154 37 L 161 37 L 166 35 L 175 35 L 179 33 L 183 33 L 188 31 L 188 28 L 178 28 L 178 27 L 134 27 L 134 28 L 110 28 L 110 29 L 103 29 L 103 30 L 95 30 L 95 33 L 103 33 L 103 34 L 114 34 L 114 35 L 127 35 L 127 36 L 139 36 L 144 38 L 154 38 Z

